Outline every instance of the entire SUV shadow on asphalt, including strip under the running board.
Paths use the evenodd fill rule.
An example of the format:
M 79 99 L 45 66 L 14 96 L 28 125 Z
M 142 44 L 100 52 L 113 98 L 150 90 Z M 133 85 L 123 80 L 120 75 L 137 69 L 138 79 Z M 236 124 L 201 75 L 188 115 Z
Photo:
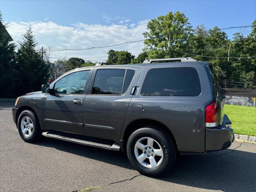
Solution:
M 108 151 L 51 138 L 43 138 L 36 144 L 134 170 L 123 152 Z M 206 155 L 178 156 L 172 174 L 154 178 L 154 180 L 207 190 L 255 191 L 255 160 L 255 153 L 232 149 Z

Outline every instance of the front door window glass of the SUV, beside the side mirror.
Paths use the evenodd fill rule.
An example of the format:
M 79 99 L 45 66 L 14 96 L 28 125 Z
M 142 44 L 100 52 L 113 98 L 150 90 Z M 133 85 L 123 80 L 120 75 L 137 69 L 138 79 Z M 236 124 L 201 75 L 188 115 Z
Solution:
M 88 80 L 90 70 L 79 71 L 64 76 L 54 85 L 56 94 L 82 94 Z

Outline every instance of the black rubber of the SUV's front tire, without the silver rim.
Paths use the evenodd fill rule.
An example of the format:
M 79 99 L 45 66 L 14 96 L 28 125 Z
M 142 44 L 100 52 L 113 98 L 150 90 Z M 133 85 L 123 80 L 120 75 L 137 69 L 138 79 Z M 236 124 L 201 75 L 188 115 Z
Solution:
M 25 136 L 23 133 L 22 133 L 22 129 L 21 129 L 21 121 L 22 121 L 22 118 L 28 116 L 31 120 L 32 120 L 32 123 L 33 123 L 33 131 L 32 131 L 32 134 L 31 136 Z M 40 125 L 38 123 L 38 119 L 36 117 L 36 114 L 30 110 L 24 110 L 20 113 L 20 116 L 18 118 L 18 131 L 19 131 L 19 134 L 20 134 L 20 137 L 28 142 L 28 143 L 32 143 L 32 142 L 36 142 L 40 139 L 41 137 L 41 128 L 40 128 Z

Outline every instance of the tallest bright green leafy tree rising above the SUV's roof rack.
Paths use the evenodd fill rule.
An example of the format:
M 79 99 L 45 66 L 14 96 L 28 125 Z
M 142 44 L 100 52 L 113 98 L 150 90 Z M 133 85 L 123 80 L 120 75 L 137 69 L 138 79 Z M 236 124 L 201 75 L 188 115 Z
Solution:
M 192 26 L 188 18 L 180 12 L 169 12 L 164 16 L 152 19 L 144 32 L 144 51 L 148 51 L 149 58 L 168 58 L 168 41 L 171 49 L 184 50 L 186 48 Z M 182 53 L 171 52 L 171 57 L 180 57 Z

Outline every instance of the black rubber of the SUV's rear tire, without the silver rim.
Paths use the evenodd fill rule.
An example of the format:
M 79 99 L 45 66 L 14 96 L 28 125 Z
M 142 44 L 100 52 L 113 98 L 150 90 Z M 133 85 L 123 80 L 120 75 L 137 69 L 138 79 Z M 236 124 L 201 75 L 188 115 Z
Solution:
M 162 148 L 162 162 L 155 168 L 145 167 L 136 159 L 134 147 L 136 142 L 143 137 L 150 137 L 156 140 Z M 164 132 L 154 126 L 142 127 L 134 131 L 128 139 L 126 152 L 132 166 L 138 170 L 138 172 L 146 176 L 158 177 L 171 173 L 176 161 L 176 148 L 174 143 Z

